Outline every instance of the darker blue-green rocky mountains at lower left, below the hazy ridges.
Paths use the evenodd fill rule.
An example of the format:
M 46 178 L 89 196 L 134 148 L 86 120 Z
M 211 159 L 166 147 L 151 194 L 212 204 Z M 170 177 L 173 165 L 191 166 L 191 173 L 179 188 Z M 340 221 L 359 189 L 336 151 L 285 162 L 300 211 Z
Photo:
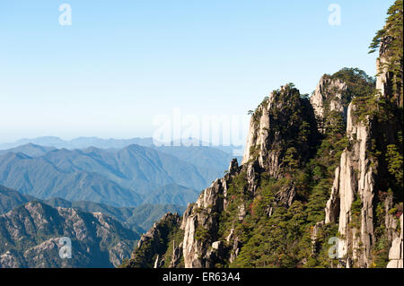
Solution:
M 0 267 L 114 267 L 130 256 L 154 221 L 184 209 L 40 200 L 0 186 Z M 72 240 L 72 259 L 58 256 L 59 239 L 66 237 Z

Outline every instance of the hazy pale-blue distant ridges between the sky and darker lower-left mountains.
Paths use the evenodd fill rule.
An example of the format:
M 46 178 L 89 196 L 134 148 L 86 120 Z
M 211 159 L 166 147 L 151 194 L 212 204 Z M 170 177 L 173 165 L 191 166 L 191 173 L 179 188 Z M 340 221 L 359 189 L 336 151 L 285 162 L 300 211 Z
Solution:
M 231 157 L 210 147 L 134 144 L 119 150 L 67 150 L 29 143 L 0 152 L 0 184 L 41 199 L 61 197 L 115 206 L 135 206 L 152 201 L 151 192 L 166 192 L 168 186 L 177 192 L 182 187 L 187 202 L 161 197 L 157 203 L 188 204 L 198 196 L 196 190 L 222 175 Z M 191 164 L 192 159 L 200 167 Z

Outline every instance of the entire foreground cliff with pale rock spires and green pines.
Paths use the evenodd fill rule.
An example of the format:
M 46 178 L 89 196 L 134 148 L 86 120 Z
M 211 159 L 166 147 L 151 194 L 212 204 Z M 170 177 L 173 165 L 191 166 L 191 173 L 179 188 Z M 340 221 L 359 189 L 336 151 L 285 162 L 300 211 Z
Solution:
M 384 45 L 377 86 L 344 68 L 310 101 L 286 84 L 259 105 L 242 165 L 233 160 L 164 238 L 182 241 L 177 267 L 402 267 L 402 94 L 391 82 L 402 65 L 401 75 L 380 65 L 391 60 Z

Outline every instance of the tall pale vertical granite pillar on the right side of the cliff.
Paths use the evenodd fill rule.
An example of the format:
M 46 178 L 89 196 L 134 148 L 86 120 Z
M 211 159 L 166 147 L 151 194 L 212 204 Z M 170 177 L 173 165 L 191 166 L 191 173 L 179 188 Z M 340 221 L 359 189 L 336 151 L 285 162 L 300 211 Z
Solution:
M 373 189 L 374 173 L 372 160 L 367 152 L 372 140 L 372 122 L 356 122 L 356 106 L 351 103 L 347 111 L 347 137 L 350 148 L 342 154 L 336 169 L 331 196 L 326 206 L 325 222 L 338 221 L 338 232 L 344 240 L 347 265 L 356 261 L 356 266 L 371 264 L 373 246 Z M 353 204 L 356 203 L 356 209 Z M 360 208 L 360 210 L 357 209 Z

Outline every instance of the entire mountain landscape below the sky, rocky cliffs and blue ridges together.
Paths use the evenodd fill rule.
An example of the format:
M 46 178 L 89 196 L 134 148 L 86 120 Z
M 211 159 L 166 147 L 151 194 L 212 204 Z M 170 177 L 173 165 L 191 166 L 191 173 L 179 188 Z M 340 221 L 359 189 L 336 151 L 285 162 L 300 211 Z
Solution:
M 402 18 L 395 0 L 376 77 L 345 67 L 311 97 L 271 91 L 241 161 L 150 139 L 7 145 L 0 267 L 402 268 Z

